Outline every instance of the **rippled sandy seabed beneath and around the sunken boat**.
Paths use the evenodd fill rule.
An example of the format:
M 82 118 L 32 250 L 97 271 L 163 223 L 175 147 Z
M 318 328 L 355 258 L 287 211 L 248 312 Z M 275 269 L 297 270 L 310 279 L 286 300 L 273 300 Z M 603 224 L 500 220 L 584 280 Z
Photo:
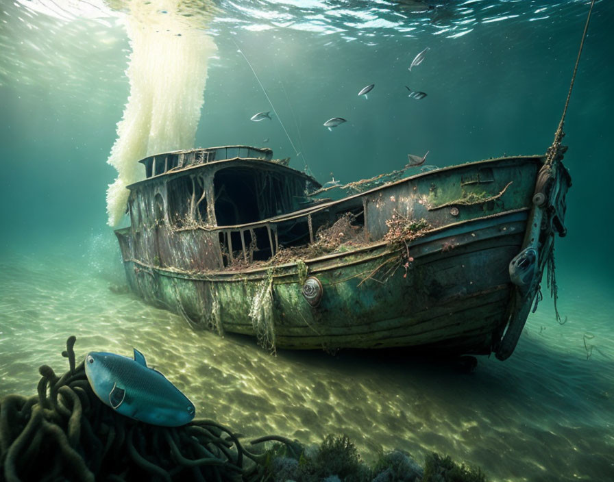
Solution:
M 76 335 L 79 357 L 138 348 L 191 398 L 197 417 L 246 437 L 317 443 L 346 433 L 367 460 L 392 448 L 418 461 L 437 451 L 482 466 L 496 481 L 614 474 L 614 306 L 592 286 L 578 283 L 582 292 L 571 299 L 561 293 L 565 325 L 544 302 L 511 359 L 480 357 L 476 372 L 463 375 L 398 352 L 271 356 L 250 338 L 193 331 L 180 316 L 117 290 L 115 257 L 3 259 L 10 261 L 0 265 L 0 397 L 34 394 L 41 364 L 66 371 L 60 353 Z

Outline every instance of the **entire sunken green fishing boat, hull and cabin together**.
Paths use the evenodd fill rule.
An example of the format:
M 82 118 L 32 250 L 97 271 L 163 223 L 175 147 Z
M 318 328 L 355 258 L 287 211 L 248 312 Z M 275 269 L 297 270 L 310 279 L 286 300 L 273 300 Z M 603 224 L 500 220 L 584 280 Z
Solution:
M 132 226 L 116 235 L 134 292 L 193 325 L 252 335 L 269 349 L 511 355 L 554 233 L 565 233 L 571 181 L 560 160 L 548 173 L 542 156 L 473 162 L 332 201 L 305 196 L 319 187 L 314 179 L 254 151 L 265 155 L 170 170 L 177 162 L 167 155 L 165 170 L 150 167 L 130 186 Z M 289 191 L 267 191 L 282 185 Z M 243 203 L 256 206 L 251 218 L 241 217 Z M 358 242 L 301 251 L 347 213 Z M 421 232 L 395 239 L 395 219 L 420 220 Z M 283 249 L 297 255 L 279 261 Z

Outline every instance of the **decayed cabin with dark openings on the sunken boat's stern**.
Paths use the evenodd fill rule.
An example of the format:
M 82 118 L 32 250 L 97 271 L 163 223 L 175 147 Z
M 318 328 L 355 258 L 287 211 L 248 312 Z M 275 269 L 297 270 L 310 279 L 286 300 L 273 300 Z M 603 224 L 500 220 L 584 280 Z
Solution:
M 266 260 L 280 246 L 308 244 L 308 218 L 288 215 L 321 203 L 308 196 L 321 186 L 272 157 L 269 148 L 248 146 L 145 157 L 145 179 L 128 186 L 131 227 L 116 231 L 120 242 L 151 266 L 190 270 L 225 268 L 236 257 Z

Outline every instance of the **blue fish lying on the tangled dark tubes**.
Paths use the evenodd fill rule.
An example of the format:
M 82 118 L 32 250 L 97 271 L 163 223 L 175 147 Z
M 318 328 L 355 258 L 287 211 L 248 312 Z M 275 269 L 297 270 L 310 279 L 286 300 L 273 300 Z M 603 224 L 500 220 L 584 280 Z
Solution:
M 85 374 L 102 403 L 122 415 L 163 427 L 179 427 L 194 418 L 194 404 L 162 373 L 149 368 L 136 348 L 134 359 L 88 353 Z

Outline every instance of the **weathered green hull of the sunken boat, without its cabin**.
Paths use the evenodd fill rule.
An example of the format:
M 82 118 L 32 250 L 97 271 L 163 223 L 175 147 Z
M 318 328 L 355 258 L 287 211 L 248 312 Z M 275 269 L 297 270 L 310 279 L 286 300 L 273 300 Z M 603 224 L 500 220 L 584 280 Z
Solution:
M 221 262 L 217 268 L 206 266 L 207 259 L 219 260 L 219 231 L 253 232 L 265 221 L 174 232 L 162 223 L 149 231 L 116 233 L 132 290 L 194 325 L 253 335 L 272 349 L 406 346 L 489 354 L 504 344 L 504 358 L 515 346 L 513 340 L 502 342 L 513 331 L 511 320 L 517 328 L 528 316 L 526 307 L 514 301 L 519 288 L 509 266 L 528 246 L 542 166 L 539 156 L 464 164 L 266 220 L 267 229 L 273 229 L 288 218 L 317 219 L 322 212 L 343 212 L 356 204 L 364 209 L 363 244 L 285 264 L 241 270 L 223 268 Z M 565 179 L 558 181 L 562 194 L 554 200 L 563 206 L 568 175 Z M 471 189 L 473 196 L 467 195 Z M 407 246 L 391 246 L 383 237 L 393 213 L 423 218 L 430 229 Z M 537 232 L 541 268 L 533 274 L 533 286 L 524 289 L 522 299 L 529 303 L 553 233 L 552 227 Z M 302 294 L 306 277 L 321 283 L 317 306 Z

